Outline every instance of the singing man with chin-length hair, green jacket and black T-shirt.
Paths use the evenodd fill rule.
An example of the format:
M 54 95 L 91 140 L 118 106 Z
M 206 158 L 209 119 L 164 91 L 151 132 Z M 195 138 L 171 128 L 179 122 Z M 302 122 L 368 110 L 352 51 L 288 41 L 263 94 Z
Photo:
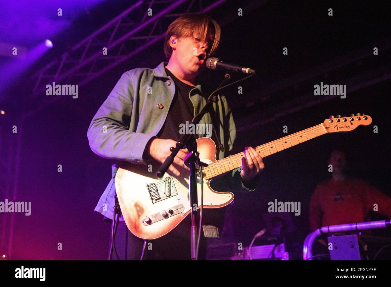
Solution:
M 146 168 L 148 162 L 163 162 L 170 147 L 180 138 L 180 125 L 191 122 L 206 104 L 210 94 L 201 73 L 205 61 L 216 51 L 220 41 L 219 24 L 206 14 L 186 14 L 173 21 L 165 36 L 164 52 L 168 62 L 156 68 L 136 68 L 125 72 L 113 91 L 99 108 L 88 128 L 91 150 L 105 159 L 127 161 Z M 202 85 L 201 85 L 202 84 Z M 201 89 L 202 86 L 202 89 Z M 236 136 L 235 123 L 226 98 L 218 96 L 213 110 L 200 123 L 213 125 L 212 139 L 217 146 L 217 159 L 230 155 Z M 196 137 L 205 137 L 198 134 Z M 168 173 L 180 176 L 188 173 L 183 159 L 188 150 L 176 155 Z M 223 175 L 213 183 L 217 191 L 254 191 L 258 174 L 264 168 L 262 157 L 252 147 L 244 150 L 242 170 Z M 115 174 L 119 164 L 112 167 L 112 179 L 95 208 L 106 221 L 114 217 Z M 205 237 L 219 237 L 224 209 L 204 210 L 203 233 L 199 258 L 205 258 Z M 190 216 L 187 216 L 167 235 L 152 240 L 152 250 L 143 259 L 190 259 Z M 120 260 L 139 260 L 143 239 L 133 235 L 120 217 L 115 247 Z M 113 255 L 112 259 L 118 259 Z

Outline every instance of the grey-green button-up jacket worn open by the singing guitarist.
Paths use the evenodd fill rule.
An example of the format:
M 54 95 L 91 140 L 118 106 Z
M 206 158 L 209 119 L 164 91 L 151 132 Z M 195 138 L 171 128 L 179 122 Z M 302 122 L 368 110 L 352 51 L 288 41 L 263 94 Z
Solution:
M 167 62 L 161 62 L 154 69 L 136 68 L 122 75 L 88 128 L 87 137 L 94 153 L 105 159 L 147 164 L 143 159 L 145 146 L 163 127 L 175 93 L 174 81 L 167 76 L 165 66 Z M 195 93 L 192 93 L 193 90 Z M 194 105 L 194 114 L 197 114 L 206 104 L 206 100 L 201 96 L 200 84 L 192 91 L 189 97 Z M 217 151 L 217 159 L 222 159 L 232 150 L 236 128 L 224 96 L 219 95 L 219 101 L 213 103 L 213 109 L 219 121 L 219 126 L 215 126 L 215 129 L 224 146 L 224 152 Z M 210 114 L 205 114 L 200 123 L 212 123 Z M 96 212 L 110 219 L 113 218 L 114 179 L 119 165 L 113 165 L 111 181 L 95 208 Z M 214 189 L 249 192 L 254 191 L 253 187 L 257 184 L 256 181 L 251 187 L 245 187 L 238 169 L 223 175 L 222 178 L 223 180 L 214 181 Z M 123 220 L 122 216 L 121 219 Z

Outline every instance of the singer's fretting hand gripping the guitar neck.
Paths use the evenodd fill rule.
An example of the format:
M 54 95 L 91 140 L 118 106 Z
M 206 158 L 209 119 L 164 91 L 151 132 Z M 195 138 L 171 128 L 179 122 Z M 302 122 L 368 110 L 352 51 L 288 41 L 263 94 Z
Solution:
M 243 182 L 249 182 L 265 168 L 265 164 L 259 153 L 251 146 L 246 146 L 244 155 L 245 157 L 242 157 L 242 171 L 240 171 L 240 176 Z

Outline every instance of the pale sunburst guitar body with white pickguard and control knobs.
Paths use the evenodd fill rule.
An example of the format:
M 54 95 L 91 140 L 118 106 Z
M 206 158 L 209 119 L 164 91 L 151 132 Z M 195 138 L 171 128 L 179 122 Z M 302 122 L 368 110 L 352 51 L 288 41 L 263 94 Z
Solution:
M 215 162 L 216 145 L 212 139 L 203 137 L 196 141 L 201 161 Z M 124 162 L 115 176 L 115 189 L 126 225 L 142 239 L 156 239 L 169 233 L 191 212 L 189 173 L 181 178 L 165 173 L 158 179 L 159 166 L 158 162 L 152 164 L 152 168 Z M 203 180 L 203 185 L 204 208 L 224 207 L 232 202 L 233 194 L 214 191 L 210 180 Z M 197 190 L 200 203 L 199 179 Z

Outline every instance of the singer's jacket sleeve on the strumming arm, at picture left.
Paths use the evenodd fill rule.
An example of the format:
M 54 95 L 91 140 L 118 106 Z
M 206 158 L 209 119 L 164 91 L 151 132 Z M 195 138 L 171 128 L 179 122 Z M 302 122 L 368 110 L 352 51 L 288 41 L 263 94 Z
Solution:
M 146 164 L 143 152 L 153 136 L 129 130 L 134 95 L 131 74 L 126 72 L 100 106 L 88 128 L 88 142 L 97 155 L 105 159 Z

